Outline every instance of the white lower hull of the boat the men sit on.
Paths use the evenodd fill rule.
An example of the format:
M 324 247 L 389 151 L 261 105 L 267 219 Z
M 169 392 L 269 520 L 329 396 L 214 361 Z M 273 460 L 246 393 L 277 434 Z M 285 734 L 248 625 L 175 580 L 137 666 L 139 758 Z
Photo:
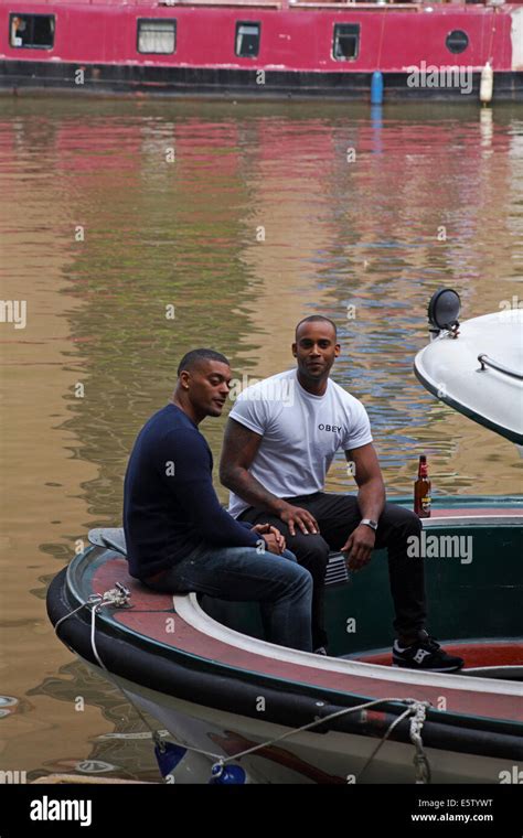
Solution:
M 158 720 L 159 729 L 169 731 L 168 741 L 213 754 L 189 752 L 173 772 L 171 780 L 175 783 L 207 783 L 211 767 L 221 756 L 230 758 L 238 751 L 291 732 L 291 728 L 265 722 L 263 712 L 258 721 L 180 700 L 114 675 L 111 680 L 119 685 L 131 702 Z M 359 780 L 378 742 L 375 738 L 337 731 L 303 731 L 267 745 L 260 753 L 232 762 L 242 765 L 248 783 L 256 784 L 416 783 L 414 746 L 389 740 Z M 224 743 L 228 746 L 224 748 Z M 484 754 L 463 754 L 434 748 L 426 748 L 425 753 L 430 765 L 431 783 L 499 784 L 504 776 L 512 776 L 513 773 L 513 761 Z

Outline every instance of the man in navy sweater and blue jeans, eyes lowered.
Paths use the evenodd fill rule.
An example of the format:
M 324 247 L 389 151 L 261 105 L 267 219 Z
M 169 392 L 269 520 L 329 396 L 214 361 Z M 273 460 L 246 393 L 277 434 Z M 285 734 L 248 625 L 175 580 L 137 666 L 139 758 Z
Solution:
M 157 591 L 259 602 L 269 642 L 310 652 L 311 574 L 275 527 L 236 522 L 213 488 L 213 458 L 198 426 L 221 416 L 230 382 L 223 355 L 193 350 L 180 363 L 172 401 L 138 434 L 124 486 L 129 572 Z

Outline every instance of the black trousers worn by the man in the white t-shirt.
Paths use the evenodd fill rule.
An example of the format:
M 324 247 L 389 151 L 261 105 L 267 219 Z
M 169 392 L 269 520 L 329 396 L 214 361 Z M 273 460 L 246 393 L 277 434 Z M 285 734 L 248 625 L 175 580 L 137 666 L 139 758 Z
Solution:
M 339 550 L 359 525 L 362 515 L 354 495 L 334 495 L 317 492 L 301 497 L 286 497 L 293 506 L 301 506 L 318 522 L 320 535 L 303 535 L 297 529 L 291 536 L 289 528 L 276 515 L 250 506 L 239 515 L 241 520 L 252 524 L 268 523 L 278 527 L 287 540 L 287 547 L 298 561 L 310 571 L 314 583 L 312 592 L 312 648 L 327 644 L 323 615 L 325 568 L 330 550 Z M 396 619 L 394 627 L 399 635 L 416 634 L 425 626 L 424 562 L 407 556 L 407 538 L 419 536 L 421 523 L 417 515 L 396 504 L 385 504 L 376 531 L 376 549 L 388 548 L 388 578 Z M 373 561 L 373 559 L 371 559 Z

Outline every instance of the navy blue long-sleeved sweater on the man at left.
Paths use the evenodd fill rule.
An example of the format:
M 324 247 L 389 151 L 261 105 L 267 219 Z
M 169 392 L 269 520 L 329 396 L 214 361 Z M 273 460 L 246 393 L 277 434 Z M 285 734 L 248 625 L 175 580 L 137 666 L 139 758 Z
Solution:
M 169 404 L 143 426 L 124 485 L 129 572 L 143 579 L 195 547 L 256 547 L 260 536 L 220 505 L 213 456 L 194 422 Z

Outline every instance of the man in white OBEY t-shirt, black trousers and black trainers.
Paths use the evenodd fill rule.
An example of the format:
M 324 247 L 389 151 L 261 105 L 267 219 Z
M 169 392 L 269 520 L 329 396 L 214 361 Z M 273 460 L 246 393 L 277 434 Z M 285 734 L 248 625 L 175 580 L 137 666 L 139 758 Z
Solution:
M 340 354 L 334 323 L 305 318 L 296 327 L 297 368 L 247 387 L 225 431 L 220 464 L 231 490 L 230 513 L 239 520 L 268 522 L 313 579 L 312 647 L 325 654 L 324 574 L 330 550 L 349 556 L 360 570 L 377 547 L 388 548 L 397 638 L 396 666 L 452 672 L 463 665 L 425 631 L 423 561 L 407 555 L 419 518 L 385 502 L 385 487 L 363 405 L 330 377 Z M 359 487 L 353 495 L 327 494 L 325 475 L 338 450 L 345 452 Z

